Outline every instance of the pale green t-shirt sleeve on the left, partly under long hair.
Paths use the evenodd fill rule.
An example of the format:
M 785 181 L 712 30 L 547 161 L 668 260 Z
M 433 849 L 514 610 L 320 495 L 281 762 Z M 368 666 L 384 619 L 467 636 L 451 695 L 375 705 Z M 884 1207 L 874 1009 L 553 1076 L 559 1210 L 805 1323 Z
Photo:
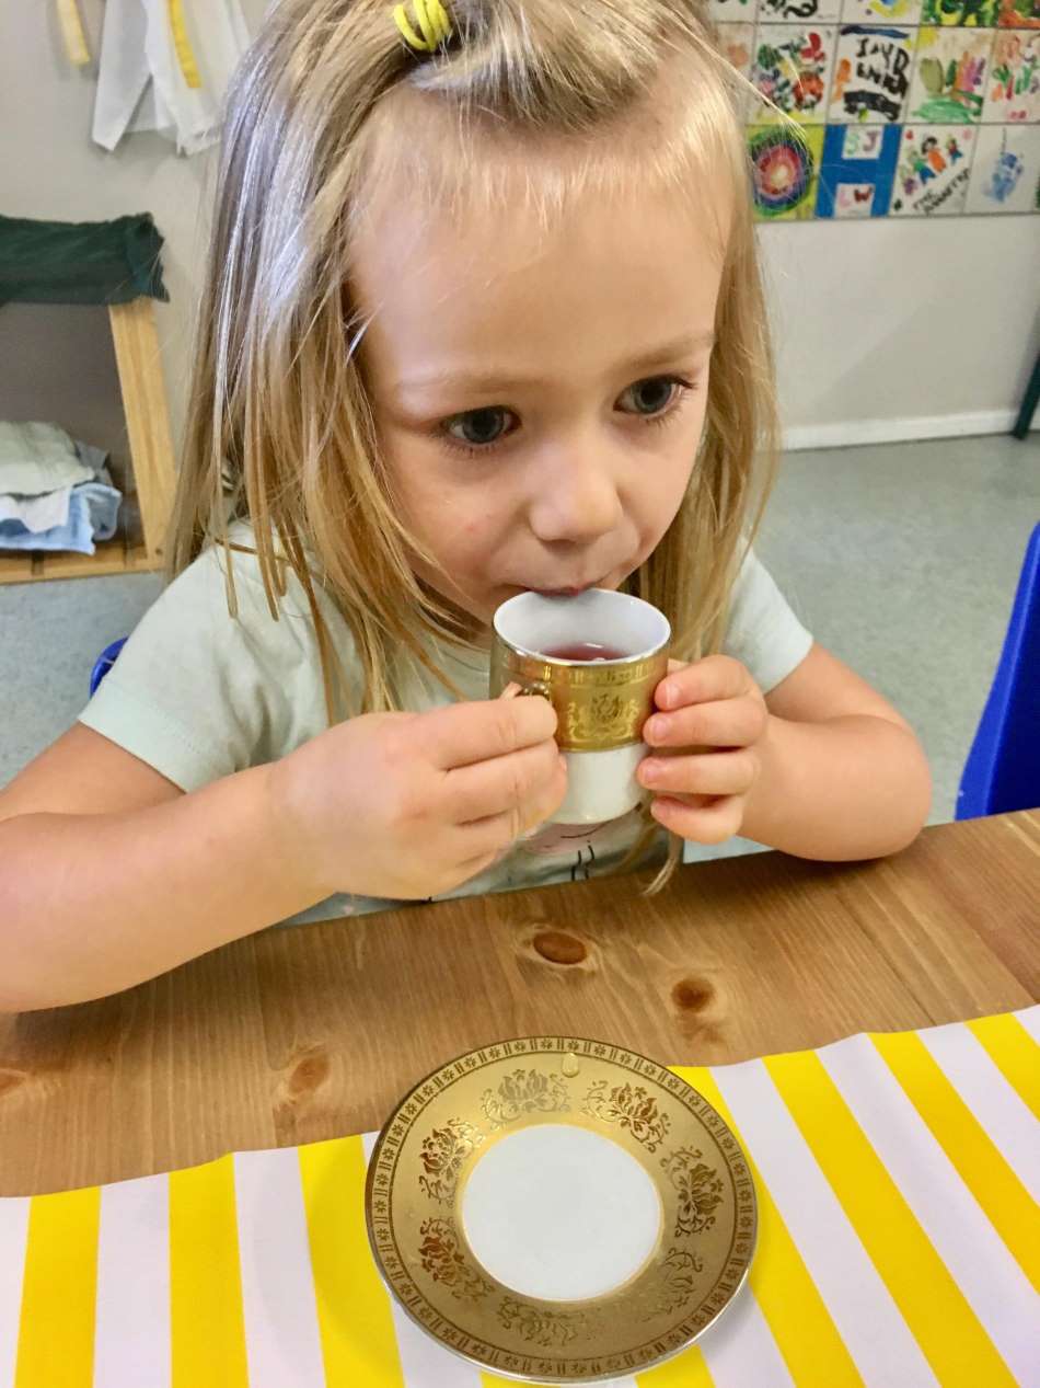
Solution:
M 79 715 L 184 791 L 272 761 L 323 722 L 312 622 L 275 620 L 255 561 L 234 558 L 237 616 L 209 550 L 146 612 Z

